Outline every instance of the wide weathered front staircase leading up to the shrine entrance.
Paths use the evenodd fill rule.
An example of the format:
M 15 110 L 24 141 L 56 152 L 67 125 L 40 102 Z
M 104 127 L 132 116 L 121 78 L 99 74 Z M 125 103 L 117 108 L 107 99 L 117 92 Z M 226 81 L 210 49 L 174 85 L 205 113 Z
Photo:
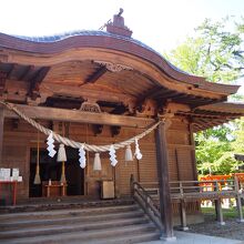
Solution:
M 0 215 L 0 243 L 142 243 L 160 238 L 135 203 Z

